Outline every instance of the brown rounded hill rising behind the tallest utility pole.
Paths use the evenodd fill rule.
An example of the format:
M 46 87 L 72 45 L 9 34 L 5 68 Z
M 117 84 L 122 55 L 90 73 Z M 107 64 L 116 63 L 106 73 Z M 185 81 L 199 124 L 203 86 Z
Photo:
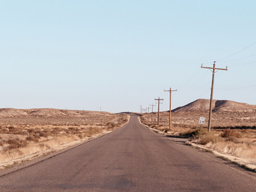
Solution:
M 212 100 L 212 111 L 228 111 L 228 112 L 253 112 L 256 111 L 256 105 L 249 105 L 247 103 L 239 103 L 230 100 Z M 198 99 L 182 107 L 177 107 L 172 112 L 195 112 L 195 111 L 209 111 L 210 100 Z

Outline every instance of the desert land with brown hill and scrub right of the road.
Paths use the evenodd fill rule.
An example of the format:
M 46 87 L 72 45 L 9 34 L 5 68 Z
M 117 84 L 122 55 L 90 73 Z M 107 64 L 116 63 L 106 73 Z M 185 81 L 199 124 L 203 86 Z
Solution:
M 169 111 L 141 114 L 143 124 L 170 136 L 189 138 L 191 142 L 223 154 L 236 156 L 256 164 L 256 106 L 229 100 L 213 100 L 212 130 L 208 132 L 210 100 L 198 99 L 172 110 L 172 128 L 169 130 Z M 205 124 L 199 136 L 199 117 Z M 151 122 L 152 117 L 152 122 Z

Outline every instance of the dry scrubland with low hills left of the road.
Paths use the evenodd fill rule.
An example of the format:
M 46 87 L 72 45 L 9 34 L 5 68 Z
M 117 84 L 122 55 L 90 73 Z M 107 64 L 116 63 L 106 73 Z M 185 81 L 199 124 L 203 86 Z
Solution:
M 0 168 L 112 132 L 126 114 L 41 109 L 0 109 Z M 115 123 L 116 122 L 116 123 Z

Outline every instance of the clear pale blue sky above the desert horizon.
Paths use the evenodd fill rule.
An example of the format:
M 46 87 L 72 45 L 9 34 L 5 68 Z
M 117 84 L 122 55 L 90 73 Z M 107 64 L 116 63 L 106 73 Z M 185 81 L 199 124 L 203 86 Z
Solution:
M 200 67 L 215 60 L 228 71 L 216 73 L 213 98 L 256 105 L 255 8 L 252 0 L 1 1 L 0 108 L 138 112 L 159 96 L 168 110 L 169 87 L 178 89 L 172 108 L 210 98 L 212 73 Z

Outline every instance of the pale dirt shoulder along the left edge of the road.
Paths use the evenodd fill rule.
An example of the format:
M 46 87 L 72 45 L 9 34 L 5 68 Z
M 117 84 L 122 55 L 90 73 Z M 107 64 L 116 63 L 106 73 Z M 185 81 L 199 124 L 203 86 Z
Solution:
M 37 163 L 40 163 L 40 162 L 43 162 L 47 159 L 50 159 L 54 156 L 57 156 L 61 153 L 65 153 L 66 151 L 69 151 L 73 148 L 76 148 L 80 145 L 83 145 L 84 143 L 87 143 L 87 142 L 90 142 L 90 141 L 93 141 L 93 140 L 96 140 L 96 139 L 99 139 L 100 137 L 103 137 L 105 135 L 108 135 L 114 131 L 116 131 L 117 129 L 120 129 L 121 127 L 123 127 L 124 125 L 128 124 L 129 121 L 130 121 L 130 115 L 128 116 L 128 120 L 126 123 L 124 124 L 121 124 L 118 128 L 116 128 L 115 130 L 112 130 L 112 131 L 108 131 L 108 132 L 103 132 L 102 134 L 97 134 L 97 135 L 93 135 L 92 137 L 89 137 L 89 138 L 85 138 L 85 139 L 81 139 L 81 142 L 79 143 L 75 143 L 73 145 L 68 145 L 66 148 L 62 148 L 60 150 L 57 150 L 57 151 L 49 151 L 49 152 L 45 152 L 45 151 L 41 151 L 41 152 L 45 152 L 43 153 L 42 156 L 38 156 L 37 153 L 36 154 L 32 154 L 33 155 L 33 158 L 30 159 L 30 160 L 25 160 L 24 162 L 21 162 L 20 164 L 12 164 L 13 166 L 10 167 L 10 168 L 5 168 L 5 169 L 1 169 L 0 170 L 0 177 L 2 176 L 5 176 L 5 175 L 8 175 L 12 172 L 16 172 L 16 171 L 19 171 L 19 170 L 22 170 L 22 169 L 25 169 L 26 167 L 30 167 L 32 165 L 35 165 Z M 78 140 L 79 141 L 79 140 Z M 71 142 L 72 143 L 72 142 Z M 70 144 L 70 143 L 68 143 Z M 54 150 L 54 149 L 53 149 Z M 26 157 L 26 156 L 25 156 Z M 24 157 L 21 157 L 19 159 L 22 159 Z M 16 161 L 18 161 L 19 159 L 15 159 Z M 11 164 L 10 164 L 11 165 Z

